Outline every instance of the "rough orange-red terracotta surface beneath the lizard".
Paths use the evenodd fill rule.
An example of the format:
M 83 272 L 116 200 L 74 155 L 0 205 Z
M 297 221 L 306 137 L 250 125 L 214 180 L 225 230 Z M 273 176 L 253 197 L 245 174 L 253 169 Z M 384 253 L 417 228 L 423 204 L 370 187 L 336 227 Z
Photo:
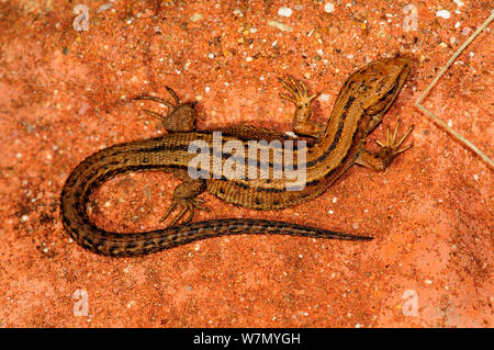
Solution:
M 89 31 L 74 30 L 78 2 Z M 493 171 L 414 106 L 492 2 L 409 1 L 418 22 L 408 32 L 407 1 L 330 2 L 333 12 L 325 1 L 0 1 L 0 325 L 492 327 Z M 492 29 L 425 101 L 491 157 Z M 110 259 L 64 230 L 59 193 L 77 163 L 164 133 L 141 112 L 159 105 L 133 97 L 168 98 L 167 84 L 200 101 L 200 128 L 289 131 L 293 106 L 278 97 L 278 77 L 323 93 L 314 110 L 325 121 L 351 71 L 398 53 L 413 58 L 412 74 L 371 139 L 400 116 L 401 132 L 415 124 L 414 147 L 388 171 L 353 167 L 316 201 L 282 212 L 204 194 L 213 211 L 195 215 L 278 218 L 373 241 L 243 235 Z M 91 217 L 120 232 L 160 227 L 177 184 L 159 172 L 117 177 L 94 193 Z

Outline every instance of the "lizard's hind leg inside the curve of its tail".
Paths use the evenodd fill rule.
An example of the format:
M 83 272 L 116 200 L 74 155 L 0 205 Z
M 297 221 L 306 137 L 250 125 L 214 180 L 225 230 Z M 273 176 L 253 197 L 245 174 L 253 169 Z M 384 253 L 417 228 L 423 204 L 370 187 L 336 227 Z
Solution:
M 189 215 L 187 218 L 182 222 L 182 224 L 188 224 L 192 221 L 194 216 L 194 208 L 206 211 L 210 210 L 202 205 L 204 202 L 201 199 L 198 199 L 197 196 L 200 195 L 204 190 L 206 189 L 205 181 L 203 179 L 184 179 L 183 174 L 180 173 L 179 178 L 183 179 L 184 182 L 180 183 L 173 192 L 173 196 L 171 199 L 171 204 L 168 207 L 165 215 L 161 217 L 161 222 L 167 219 L 170 214 L 175 211 L 177 206 L 180 206 L 181 210 L 177 214 L 177 216 L 173 217 L 173 219 L 170 222 L 169 227 L 172 227 L 177 225 L 177 223 L 189 212 Z

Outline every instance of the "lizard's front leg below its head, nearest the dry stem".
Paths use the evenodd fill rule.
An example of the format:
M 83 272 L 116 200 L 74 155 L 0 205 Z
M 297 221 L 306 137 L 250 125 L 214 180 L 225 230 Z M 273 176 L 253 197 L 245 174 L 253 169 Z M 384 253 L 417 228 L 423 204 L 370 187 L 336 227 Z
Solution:
M 405 150 L 409 149 L 412 147 L 412 144 L 408 146 L 405 146 L 403 148 L 400 148 L 402 146 L 403 142 L 406 139 L 406 137 L 409 135 L 414 126 L 412 125 L 408 127 L 408 129 L 405 132 L 405 135 L 400 140 L 396 140 L 397 137 L 397 129 L 400 125 L 400 120 L 396 121 L 396 125 L 394 127 L 393 136 L 391 136 L 390 128 L 386 128 L 386 140 L 385 143 L 382 143 L 380 140 L 377 140 L 375 143 L 381 147 L 379 151 L 370 151 L 366 148 L 363 148 L 360 153 L 358 158 L 355 160 L 356 163 L 377 170 L 377 171 L 384 171 L 393 161 L 394 157 L 397 155 L 404 153 Z

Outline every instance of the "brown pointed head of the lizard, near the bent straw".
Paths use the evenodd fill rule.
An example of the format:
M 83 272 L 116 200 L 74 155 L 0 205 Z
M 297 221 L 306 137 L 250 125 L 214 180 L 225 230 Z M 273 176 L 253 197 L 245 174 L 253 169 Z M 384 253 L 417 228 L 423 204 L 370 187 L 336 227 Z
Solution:
M 409 72 L 409 59 L 394 57 L 370 63 L 355 72 L 349 83 L 369 115 L 384 114 L 393 103 Z

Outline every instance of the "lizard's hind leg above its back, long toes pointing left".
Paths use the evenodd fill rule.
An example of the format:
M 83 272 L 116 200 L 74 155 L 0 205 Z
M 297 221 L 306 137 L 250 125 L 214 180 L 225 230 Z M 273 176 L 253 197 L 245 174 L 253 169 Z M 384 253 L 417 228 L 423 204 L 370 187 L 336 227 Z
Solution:
M 167 115 L 162 115 L 149 110 L 143 110 L 144 113 L 157 117 L 161 121 L 162 126 L 167 132 L 193 132 L 195 131 L 195 122 L 198 120 L 198 112 L 195 111 L 197 102 L 180 103 L 177 93 L 169 87 L 166 87 L 168 93 L 175 100 L 175 104 L 151 95 L 139 95 L 134 100 L 149 100 L 165 104 L 168 108 Z

